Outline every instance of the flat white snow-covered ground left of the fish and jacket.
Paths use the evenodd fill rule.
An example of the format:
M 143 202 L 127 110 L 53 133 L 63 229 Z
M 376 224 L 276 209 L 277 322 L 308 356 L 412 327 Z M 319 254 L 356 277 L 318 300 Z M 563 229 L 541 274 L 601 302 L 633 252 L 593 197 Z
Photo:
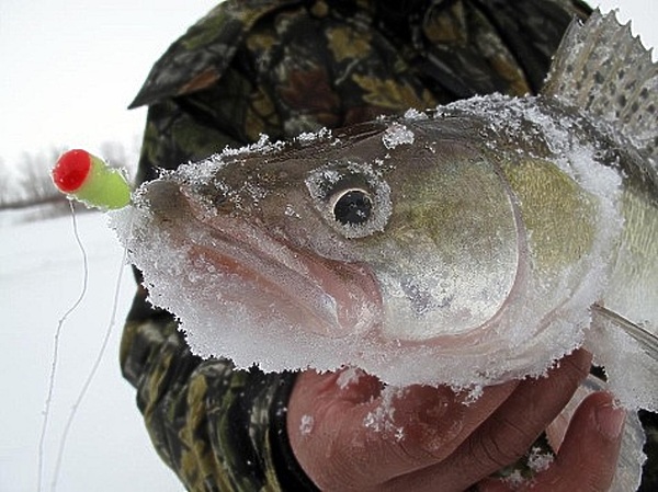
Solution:
M 109 327 L 123 252 L 102 214 L 78 214 L 89 256 L 89 286 L 61 330 L 44 454 L 43 490 L 50 490 L 65 422 Z M 0 491 L 35 491 L 54 336 L 83 281 L 70 216 L 16 222 L 0 214 Z M 58 491 L 181 491 L 150 445 L 122 378 L 118 343 L 134 281 L 124 267 L 116 323 L 87 398 L 78 409 Z

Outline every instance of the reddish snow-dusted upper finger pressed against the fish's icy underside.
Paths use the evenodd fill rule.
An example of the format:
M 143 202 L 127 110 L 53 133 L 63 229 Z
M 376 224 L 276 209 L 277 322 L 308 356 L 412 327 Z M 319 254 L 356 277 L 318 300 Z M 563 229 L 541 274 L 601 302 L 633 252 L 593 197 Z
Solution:
M 386 481 L 441 461 L 518 385 L 486 388 L 465 405 L 466 394 L 444 387 L 387 389 L 375 397 L 368 378 L 342 388 L 331 375 L 305 374 L 297 380 L 288 405 L 291 444 L 320 488 L 337 479 L 352 485 Z M 304 435 L 300 419 L 308 423 L 308 416 L 313 430 Z

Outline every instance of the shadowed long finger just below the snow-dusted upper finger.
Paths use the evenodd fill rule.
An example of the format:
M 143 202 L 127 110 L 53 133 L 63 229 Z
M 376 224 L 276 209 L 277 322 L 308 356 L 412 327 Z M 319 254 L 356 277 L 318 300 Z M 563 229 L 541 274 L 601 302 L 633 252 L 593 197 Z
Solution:
M 465 490 L 513 464 L 570 400 L 580 381 L 587 377 L 590 361 L 588 353 L 576 351 L 561 359 L 547 377 L 523 380 L 449 459 L 400 477 L 392 482 L 392 488 Z

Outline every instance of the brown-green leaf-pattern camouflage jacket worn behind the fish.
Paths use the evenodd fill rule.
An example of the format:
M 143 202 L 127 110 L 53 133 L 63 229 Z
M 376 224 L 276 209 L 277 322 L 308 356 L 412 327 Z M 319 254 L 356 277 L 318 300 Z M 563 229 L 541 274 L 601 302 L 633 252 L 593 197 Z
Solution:
M 578 0 L 228 0 L 155 65 L 138 181 L 242 146 L 478 93 L 536 92 Z M 138 288 L 121 364 L 192 491 L 313 490 L 285 432 L 293 374 L 191 354 Z M 648 490 L 648 489 L 647 489 Z

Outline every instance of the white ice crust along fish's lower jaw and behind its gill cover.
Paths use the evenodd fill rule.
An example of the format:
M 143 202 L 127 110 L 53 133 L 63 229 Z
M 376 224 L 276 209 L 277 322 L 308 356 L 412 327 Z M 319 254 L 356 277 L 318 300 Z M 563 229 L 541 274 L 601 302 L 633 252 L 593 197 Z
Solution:
M 127 210 L 123 213 L 126 217 L 117 218 L 116 222 L 132 222 L 132 230 L 123 233 L 126 240 L 131 236 L 128 245 L 134 251 L 133 261 L 145 273 L 151 301 L 177 313 L 193 351 L 204 357 L 229 356 L 238 367 L 249 367 L 256 363 L 264 370 L 306 367 L 332 370 L 343 365 L 353 365 L 379 376 L 394 386 L 413 382 L 450 384 L 472 390 L 510 378 L 540 376 L 554 361 L 586 342 L 591 325 L 589 307 L 600 299 L 603 293 L 610 248 L 620 234 L 623 224 L 619 210 L 622 176 L 613 168 L 598 165 L 594 161 L 595 149 L 575 142 L 571 128 L 556 126 L 548 115 L 536 108 L 532 100 L 483 98 L 472 101 L 470 104 L 462 103 L 447 107 L 446 112 L 472 112 L 478 117 L 491 118 L 491 125 L 495 125 L 499 121 L 496 114 L 499 114 L 500 107 L 506 107 L 509 112 L 504 115 L 504 121 L 518 122 L 523 117 L 541 127 L 547 135 L 546 142 L 554 147 L 556 155 L 564 156 L 563 160 L 558 161 L 561 170 L 599 201 L 594 247 L 580 264 L 574 266 L 582 270 L 582 279 L 578 287 L 574 289 L 569 285 L 563 285 L 560 278 L 549 279 L 551 282 L 543 279 L 548 282 L 547 285 L 533 284 L 531 279 L 526 279 L 523 302 L 510 307 L 509 317 L 512 321 L 497 327 L 496 346 L 484 343 L 480 346 L 441 351 L 422 344 L 400 344 L 395 337 L 384 343 L 373 341 L 360 330 L 345 337 L 309 333 L 300 327 L 292 325 L 285 317 L 279 317 L 276 306 L 264 306 L 259 310 L 243 304 L 241 299 L 250 296 L 257 298 L 259 293 L 249 291 L 251 286 L 246 285 L 243 278 L 218 271 L 203 255 L 192 259 L 189 247 L 178 243 L 169 231 L 160 229 L 158 236 L 148 214 L 139 216 Z M 446 115 L 447 113 L 441 113 L 435 118 L 447 117 Z M 399 129 L 394 127 L 396 128 Z M 409 128 L 405 128 L 405 133 L 408 131 Z M 322 138 L 326 138 L 326 135 Z M 384 146 L 389 150 L 386 144 Z M 268 148 L 264 151 L 274 150 Z M 259 148 L 256 151 L 263 152 L 263 149 Z M 183 167 L 175 178 L 186 184 L 204 186 L 208 176 L 216 175 L 218 169 L 229 165 L 229 159 L 236 155 L 231 151 L 201 164 Z M 386 161 L 386 157 L 383 156 L 384 167 Z M 316 171 L 311 172 L 311 181 L 314 172 Z M 341 178 L 338 173 L 332 175 L 330 170 L 322 167 L 317 172 L 328 180 L 337 181 Z M 368 171 L 373 176 L 377 172 Z M 258 186 L 249 186 L 248 183 L 245 184 L 245 188 L 248 190 L 247 195 L 251 197 L 252 203 L 258 203 L 266 195 L 266 192 L 259 191 Z M 291 207 L 290 204 L 287 206 Z M 286 208 L 284 214 L 290 215 L 290 209 Z M 189 231 L 180 232 L 196 242 L 213 243 L 213 238 L 205 234 L 203 229 L 190 228 Z M 256 231 L 248 233 L 257 234 Z M 281 255 L 277 243 L 268 244 L 261 238 L 256 238 L 256 241 L 260 248 L 270 249 L 265 254 L 272 258 Z M 135 245 L 145 242 L 155 242 L 158 248 L 136 253 Z M 341 256 L 340 251 L 329 253 Z M 396 255 L 392 259 L 395 260 Z M 281 260 L 284 263 L 286 261 Z M 394 278 L 383 277 L 381 281 L 384 290 L 400 289 L 400 285 L 396 284 Z M 208 288 L 218 284 L 223 285 L 222 293 L 234 291 L 235 296 L 226 298 L 225 294 Z M 422 299 L 423 296 L 427 298 L 427 290 L 417 287 L 416 294 L 407 289 L 407 295 L 417 306 L 422 306 L 427 302 Z M 405 295 L 399 296 L 404 298 Z M 547 302 L 551 296 L 568 298 L 568 301 L 560 307 L 559 317 L 545 327 L 537 325 L 536 312 L 543 305 L 551 304 Z M 478 299 L 472 300 L 474 304 L 478 302 Z M 318 306 L 318 309 L 328 307 L 330 311 L 334 299 L 327 295 L 324 302 L 326 306 Z M 532 309 L 533 307 L 537 310 Z M 363 307 L 360 319 L 365 320 L 364 325 L 367 325 L 368 319 L 376 316 L 376 311 L 377 307 L 374 305 Z M 399 311 L 405 312 L 404 307 Z M 487 311 L 487 317 L 492 314 L 495 312 Z M 407 311 L 406 314 L 398 314 L 398 323 L 402 327 L 422 325 L 422 308 L 420 312 Z M 535 327 L 534 331 L 529 327 Z M 367 334 L 366 328 L 363 330 Z

